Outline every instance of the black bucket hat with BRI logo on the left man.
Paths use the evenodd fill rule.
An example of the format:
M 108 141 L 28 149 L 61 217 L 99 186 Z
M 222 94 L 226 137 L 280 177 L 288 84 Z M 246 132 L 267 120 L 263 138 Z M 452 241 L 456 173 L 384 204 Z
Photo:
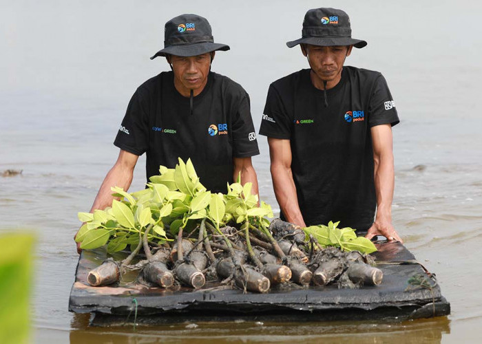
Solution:
M 196 56 L 215 50 L 229 50 L 229 45 L 214 43 L 211 25 L 196 14 L 181 14 L 164 27 L 164 49 L 154 56 Z

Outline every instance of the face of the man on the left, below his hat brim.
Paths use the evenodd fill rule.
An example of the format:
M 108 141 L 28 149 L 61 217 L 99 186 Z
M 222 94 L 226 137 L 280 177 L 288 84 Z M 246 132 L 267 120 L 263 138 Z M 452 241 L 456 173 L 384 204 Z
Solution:
M 192 89 L 194 96 L 200 94 L 207 84 L 211 53 L 189 57 L 172 55 L 169 60 L 178 92 L 183 96 L 189 96 Z

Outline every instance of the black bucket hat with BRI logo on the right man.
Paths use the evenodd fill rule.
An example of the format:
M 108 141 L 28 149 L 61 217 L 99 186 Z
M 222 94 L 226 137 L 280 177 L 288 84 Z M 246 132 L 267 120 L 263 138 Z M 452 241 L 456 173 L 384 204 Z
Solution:
M 367 43 L 351 38 L 350 18 L 342 10 L 336 8 L 315 8 L 308 10 L 304 16 L 302 38 L 286 42 L 288 47 L 300 43 L 321 45 L 354 45 L 364 47 Z

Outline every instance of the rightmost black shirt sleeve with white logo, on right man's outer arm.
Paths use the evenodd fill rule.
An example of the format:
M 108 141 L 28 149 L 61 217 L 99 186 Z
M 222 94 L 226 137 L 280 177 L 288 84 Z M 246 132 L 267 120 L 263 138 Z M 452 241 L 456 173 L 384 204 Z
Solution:
M 390 94 L 386 80 L 381 74 L 375 80 L 375 85 L 373 85 L 368 114 L 369 127 L 388 123 L 394 126 L 400 122 L 392 94 Z

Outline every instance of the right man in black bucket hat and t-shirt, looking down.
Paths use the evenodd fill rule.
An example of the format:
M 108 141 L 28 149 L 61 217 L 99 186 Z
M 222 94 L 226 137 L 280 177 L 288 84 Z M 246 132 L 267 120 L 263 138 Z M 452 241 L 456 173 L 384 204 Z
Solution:
M 286 43 L 298 44 L 310 68 L 270 85 L 260 127 L 282 218 L 340 221 L 368 238 L 401 241 L 391 223 L 395 103 L 379 72 L 344 66 L 366 41 L 351 38 L 344 11 L 316 8 L 306 12 L 302 38 Z

